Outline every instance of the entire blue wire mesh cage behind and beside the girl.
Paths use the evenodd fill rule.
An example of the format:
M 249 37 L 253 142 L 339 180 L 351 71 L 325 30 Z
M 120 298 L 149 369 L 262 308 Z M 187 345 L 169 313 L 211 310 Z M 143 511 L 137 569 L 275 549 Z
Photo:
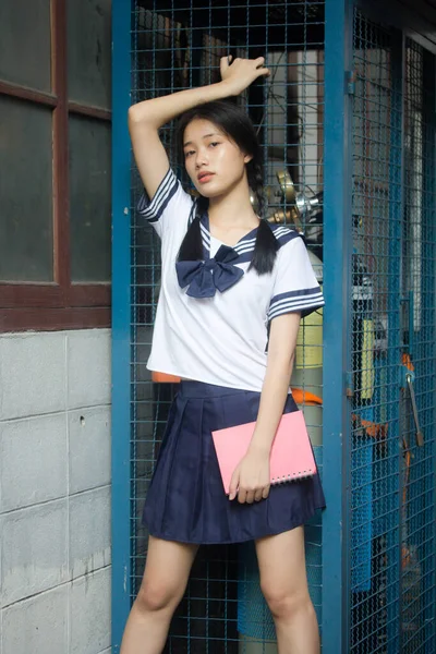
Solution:
M 304 232 L 318 281 L 328 286 L 326 312 L 329 301 L 342 312 L 329 314 L 335 325 L 323 324 L 323 311 L 303 322 L 291 383 L 322 476 L 328 473 L 326 465 L 323 475 L 327 456 L 340 476 L 334 480 L 328 473 L 340 505 L 335 519 L 326 520 L 327 509 L 323 523 L 317 517 L 305 528 L 310 592 L 322 638 L 327 633 L 323 649 L 331 654 L 339 649 L 350 654 L 432 654 L 436 61 L 423 39 L 412 40 L 401 24 L 392 27 L 378 14 L 375 19 L 363 0 L 359 9 L 350 3 L 350 15 L 346 4 L 132 0 L 131 101 L 214 83 L 225 56 L 266 58 L 270 78 L 231 100 L 249 111 L 263 148 L 266 218 Z M 326 15 L 330 21 L 342 16 L 343 34 L 336 35 Z M 342 51 L 350 61 L 340 59 Z M 336 58 L 343 70 L 332 75 Z M 346 61 L 352 70 L 346 70 Z M 334 107 L 351 118 L 339 147 L 338 122 L 329 124 L 336 120 Z M 175 124 L 166 125 L 161 137 L 173 170 L 190 190 Z M 335 168 L 343 172 L 341 179 L 324 166 L 326 158 L 334 168 L 334 150 L 342 158 Z M 123 583 L 132 603 L 146 559 L 143 504 L 177 385 L 154 383 L 146 370 L 159 294 L 160 244 L 135 215 L 142 185 L 133 160 L 129 192 L 130 552 L 122 572 L 129 576 L 130 583 Z M 330 214 L 325 220 L 327 203 Z M 340 239 L 335 239 L 331 225 Z M 332 279 L 342 286 L 332 288 Z M 338 376 L 332 375 L 337 364 L 324 346 L 326 339 L 335 344 L 336 327 L 347 342 L 335 352 L 341 362 L 348 361 Z M 330 402 L 324 407 L 326 396 Z M 326 423 L 335 425 L 329 435 L 336 440 L 325 438 L 323 446 Z M 337 536 L 338 552 L 328 547 L 326 524 L 328 538 Z M 332 607 L 325 583 L 335 579 L 328 574 L 330 565 L 343 582 L 339 592 L 335 590 Z M 339 627 L 331 629 L 325 616 L 331 621 L 335 611 Z M 166 652 L 277 653 L 252 544 L 201 549 Z

